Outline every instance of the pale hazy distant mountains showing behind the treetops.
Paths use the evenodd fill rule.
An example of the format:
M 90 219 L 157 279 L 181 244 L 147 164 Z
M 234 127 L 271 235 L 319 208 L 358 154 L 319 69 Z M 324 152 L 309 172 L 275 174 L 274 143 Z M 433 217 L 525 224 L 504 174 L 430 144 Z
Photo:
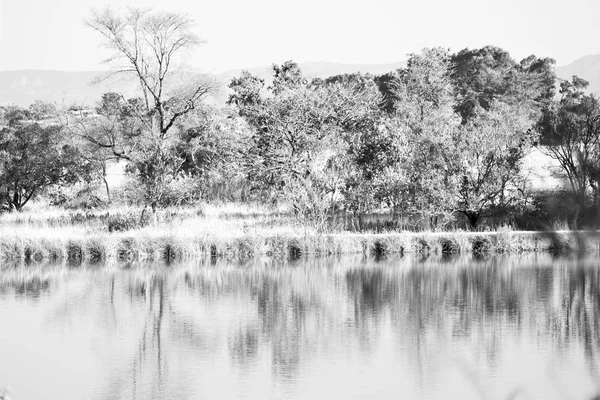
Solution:
M 304 74 L 310 78 L 325 78 L 328 76 L 354 72 L 385 74 L 402 68 L 404 62 L 391 64 L 340 64 L 328 62 L 300 63 Z M 247 70 L 263 78 L 269 85 L 272 82 L 271 66 L 247 68 Z M 223 90 L 217 96 L 216 102 L 223 102 L 228 95 L 227 85 L 231 78 L 239 76 L 242 69 L 234 69 L 216 74 Z M 590 82 L 590 91 L 600 94 L 600 54 L 580 58 L 571 64 L 557 67 L 556 73 L 560 78 L 570 79 L 577 75 Z M 56 102 L 71 105 L 73 103 L 93 105 L 103 93 L 110 91 L 125 92 L 133 95 L 137 88 L 136 82 L 111 78 L 100 84 L 93 81 L 102 76 L 100 71 L 49 71 L 21 70 L 0 72 L 0 105 L 17 104 L 27 106 L 35 100 Z

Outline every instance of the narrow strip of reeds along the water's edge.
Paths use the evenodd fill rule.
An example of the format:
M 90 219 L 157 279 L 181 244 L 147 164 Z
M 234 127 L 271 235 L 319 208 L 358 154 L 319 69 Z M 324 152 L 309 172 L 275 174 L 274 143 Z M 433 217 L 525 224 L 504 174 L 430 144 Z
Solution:
M 43 233 L 43 232 L 41 232 Z M 56 232 L 60 234 L 60 231 Z M 130 261 L 247 260 L 259 257 L 300 259 L 362 254 L 517 254 L 524 252 L 590 253 L 600 251 L 598 231 L 499 231 L 387 234 L 293 233 L 239 236 L 153 232 L 78 236 L 0 232 L 3 262 L 104 263 Z

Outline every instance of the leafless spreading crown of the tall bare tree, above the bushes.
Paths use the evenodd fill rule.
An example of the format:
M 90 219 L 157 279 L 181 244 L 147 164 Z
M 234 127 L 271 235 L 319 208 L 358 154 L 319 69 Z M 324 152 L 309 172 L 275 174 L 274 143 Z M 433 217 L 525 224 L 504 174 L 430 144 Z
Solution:
M 106 8 L 93 12 L 87 25 L 114 52 L 105 60 L 115 67 L 107 77 L 129 74 L 139 80 L 148 115 L 137 116 L 152 132 L 167 135 L 180 117 L 216 89 L 213 79 L 175 68 L 181 56 L 203 43 L 184 14 L 128 8 L 118 15 Z M 177 81 L 185 83 L 174 84 Z

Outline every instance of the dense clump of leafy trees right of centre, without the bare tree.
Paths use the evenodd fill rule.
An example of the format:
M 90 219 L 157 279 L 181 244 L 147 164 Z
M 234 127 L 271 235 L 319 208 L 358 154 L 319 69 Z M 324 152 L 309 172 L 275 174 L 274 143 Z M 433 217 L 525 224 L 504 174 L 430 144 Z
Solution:
M 249 177 L 301 214 L 389 207 L 431 227 L 459 212 L 475 227 L 522 198 L 521 160 L 553 94 L 552 63 L 432 48 L 382 77 L 307 83 L 288 62 L 274 66 L 270 95 L 248 73 L 234 79 L 230 104 L 252 128 Z

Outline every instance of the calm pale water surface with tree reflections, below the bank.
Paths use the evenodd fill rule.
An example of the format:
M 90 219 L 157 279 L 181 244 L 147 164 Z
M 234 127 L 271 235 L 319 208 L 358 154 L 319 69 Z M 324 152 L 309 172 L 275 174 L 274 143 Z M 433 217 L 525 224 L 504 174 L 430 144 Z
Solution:
M 600 263 L 550 256 L 0 267 L 29 399 L 592 399 Z

